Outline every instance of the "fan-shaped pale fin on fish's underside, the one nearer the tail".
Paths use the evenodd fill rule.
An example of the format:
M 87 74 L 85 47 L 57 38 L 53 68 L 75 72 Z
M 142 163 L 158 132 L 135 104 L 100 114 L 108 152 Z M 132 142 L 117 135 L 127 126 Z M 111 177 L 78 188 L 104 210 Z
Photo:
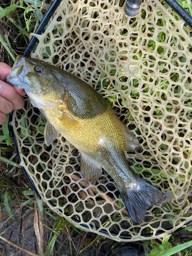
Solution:
M 102 168 L 87 155 L 81 154 L 81 173 L 87 182 L 97 180 L 102 175 Z

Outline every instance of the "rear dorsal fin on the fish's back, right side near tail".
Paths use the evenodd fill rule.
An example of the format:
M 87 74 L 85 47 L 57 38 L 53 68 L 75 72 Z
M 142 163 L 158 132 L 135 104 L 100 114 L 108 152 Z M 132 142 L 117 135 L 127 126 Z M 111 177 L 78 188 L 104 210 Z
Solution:
M 125 125 L 123 125 L 123 130 L 125 135 L 125 151 L 136 151 L 140 153 L 142 151 L 142 147 L 135 134 L 132 133 Z

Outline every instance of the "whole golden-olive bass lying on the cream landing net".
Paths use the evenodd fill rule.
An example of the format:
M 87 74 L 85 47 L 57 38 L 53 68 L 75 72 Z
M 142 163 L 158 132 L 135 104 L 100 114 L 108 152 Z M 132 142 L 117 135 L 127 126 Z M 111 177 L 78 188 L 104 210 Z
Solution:
M 88 83 L 48 62 L 18 55 L 7 82 L 25 89 L 31 104 L 47 119 L 45 143 L 61 134 L 80 154 L 83 179 L 92 182 L 104 169 L 115 181 L 134 223 L 166 196 L 136 175 L 126 151 L 141 151 L 136 136 L 117 118 L 111 106 Z

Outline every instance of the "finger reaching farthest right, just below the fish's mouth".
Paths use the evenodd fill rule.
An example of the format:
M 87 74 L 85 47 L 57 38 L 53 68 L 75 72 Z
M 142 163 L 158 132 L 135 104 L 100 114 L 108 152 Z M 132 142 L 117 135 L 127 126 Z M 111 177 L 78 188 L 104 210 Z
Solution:
M 24 99 L 9 83 L 0 81 L 0 96 L 9 100 L 13 104 L 14 110 L 20 110 L 24 106 Z

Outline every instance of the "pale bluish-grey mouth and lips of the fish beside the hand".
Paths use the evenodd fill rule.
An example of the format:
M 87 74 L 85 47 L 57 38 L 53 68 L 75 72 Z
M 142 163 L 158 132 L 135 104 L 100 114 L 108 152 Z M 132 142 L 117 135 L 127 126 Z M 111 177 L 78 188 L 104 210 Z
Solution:
M 13 68 L 10 70 L 10 74 L 6 77 L 8 83 L 12 84 L 12 86 L 17 86 L 22 89 L 25 89 L 25 86 L 20 81 L 28 73 L 28 70 L 25 65 L 25 59 L 26 58 L 24 56 L 18 55 L 16 57 Z

